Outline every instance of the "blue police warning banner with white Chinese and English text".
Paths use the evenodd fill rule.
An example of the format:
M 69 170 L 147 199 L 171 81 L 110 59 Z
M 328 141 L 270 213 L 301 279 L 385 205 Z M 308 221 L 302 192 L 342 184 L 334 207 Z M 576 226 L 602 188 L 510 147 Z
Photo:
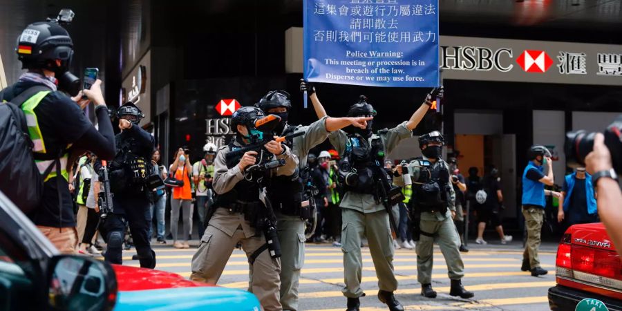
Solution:
M 304 76 L 314 82 L 437 86 L 437 0 L 308 0 Z

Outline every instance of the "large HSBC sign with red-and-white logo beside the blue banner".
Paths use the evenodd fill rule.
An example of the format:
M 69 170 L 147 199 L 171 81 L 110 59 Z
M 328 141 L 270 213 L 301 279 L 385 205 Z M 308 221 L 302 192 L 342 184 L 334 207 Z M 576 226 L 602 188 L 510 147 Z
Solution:
M 622 85 L 622 46 L 440 36 L 443 78 Z

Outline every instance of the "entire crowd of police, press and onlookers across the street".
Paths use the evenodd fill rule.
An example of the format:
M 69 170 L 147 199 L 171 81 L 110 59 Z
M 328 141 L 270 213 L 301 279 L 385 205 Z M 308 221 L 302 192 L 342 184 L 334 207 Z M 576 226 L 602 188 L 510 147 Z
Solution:
M 23 113 L 31 115 L 28 135 L 43 191 L 40 206 L 24 211 L 60 252 L 97 256 L 101 238 L 109 263 L 122 264 L 123 247 L 133 246 L 140 266 L 153 269 L 152 239 L 168 243 L 169 206 L 172 247 L 189 248 L 196 227 L 200 242 L 191 260 L 194 281 L 218 283 L 233 249 L 241 247 L 249 259 L 249 291 L 263 308 L 299 310 L 305 242 L 332 242 L 343 250 L 347 310 L 359 310 L 359 297 L 364 295 L 361 245 L 367 241 L 379 279 L 378 299 L 389 310 L 402 311 L 393 294 L 398 286 L 396 248 L 415 249 L 421 294 L 435 298 L 431 271 L 437 243 L 449 270 L 450 294 L 468 299 L 474 294 L 462 286 L 460 254 L 468 252 L 466 207 L 476 216 L 476 243 L 487 243 L 484 230 L 489 224 L 500 243 L 512 241 L 500 218 L 504 197 L 498 169 L 491 167 L 480 178 L 472 167 L 464 178 L 456 158 L 443 160 L 445 140 L 439 131 L 420 135 L 422 156 L 387 158 L 402 140 L 412 137 L 433 100 L 442 97 L 442 86 L 413 105 L 416 110 L 408 120 L 373 131 L 377 111 L 366 97 L 359 97 L 346 117 L 329 117 L 316 88 L 302 81 L 301 91 L 310 96 L 316 122 L 292 125 L 290 95 L 270 91 L 255 106 L 233 113 L 235 137 L 227 145 L 218 149 L 205 144 L 202 158 L 194 163 L 190 150 L 180 147 L 167 166 L 160 161 L 153 135 L 139 126 L 144 115 L 138 106 L 126 102 L 117 109 L 119 133 L 114 135 L 102 82 L 75 89 L 68 72 L 72 44 L 64 28 L 48 21 L 27 30 L 41 35 L 35 42 L 19 41 L 20 46 L 35 46 L 41 53 L 18 52 L 27 71 L 0 98 L 18 102 Z M 95 104 L 97 127 L 82 111 L 90 102 Z M 334 149 L 317 156 L 310 153 L 327 138 Z M 594 169 L 598 165 L 593 163 L 593 180 L 584 168 L 576 169 L 565 177 L 561 192 L 546 188 L 555 181 L 551 153 L 539 145 L 529 149 L 521 182 L 527 228 L 522 270 L 532 276 L 547 273 L 538 260 L 546 196 L 556 198 L 557 220 L 567 225 L 598 221 L 596 199 L 616 199 L 612 190 L 594 191 L 597 183 L 613 187 L 598 182 L 614 179 L 602 173 L 611 169 L 603 147 L 601 137 L 594 145 L 598 152 L 587 157 L 588 169 L 590 162 L 596 163 L 594 157 L 608 156 L 608 166 Z M 314 232 L 305 234 L 313 223 Z

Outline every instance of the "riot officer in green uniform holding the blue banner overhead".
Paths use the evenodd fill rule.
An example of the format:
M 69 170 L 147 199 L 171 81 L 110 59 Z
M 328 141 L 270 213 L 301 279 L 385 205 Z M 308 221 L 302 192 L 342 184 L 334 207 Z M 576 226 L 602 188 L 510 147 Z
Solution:
M 329 135 L 330 142 L 339 151 L 339 178 L 345 194 L 341 200 L 341 249 L 343 251 L 344 279 L 346 287 L 343 295 L 348 298 L 348 311 L 359 310 L 359 297 L 364 295 L 361 288 L 361 239 L 367 237 L 370 252 L 379 282 L 378 299 L 386 303 L 389 310 L 404 310 L 395 299 L 397 279 L 393 271 L 393 238 L 389 229 L 387 209 L 397 202 L 384 202 L 377 191 L 390 188 L 390 180 L 383 169 L 384 156 L 399 144 L 410 138 L 415 126 L 422 120 L 432 104 L 432 99 L 442 94 L 442 88 L 428 94 L 424 103 L 413 113 L 410 120 L 402 122 L 393 129 L 384 129 L 374 134 L 372 122 L 365 129 L 348 128 Z M 349 117 L 374 116 L 376 111 L 368 104 L 366 97 L 350 106 Z M 399 188 L 396 188 L 399 191 Z M 403 197 L 402 197 L 403 199 Z

